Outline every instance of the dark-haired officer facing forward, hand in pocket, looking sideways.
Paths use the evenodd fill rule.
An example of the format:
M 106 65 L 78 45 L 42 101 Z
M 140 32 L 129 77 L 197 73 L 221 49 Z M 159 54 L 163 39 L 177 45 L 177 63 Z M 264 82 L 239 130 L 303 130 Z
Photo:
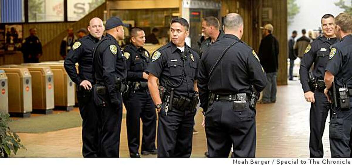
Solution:
M 159 112 L 158 157 L 190 157 L 192 151 L 199 56 L 185 43 L 188 28 L 187 20 L 173 18 L 171 42 L 153 53 L 147 69 L 148 87 Z

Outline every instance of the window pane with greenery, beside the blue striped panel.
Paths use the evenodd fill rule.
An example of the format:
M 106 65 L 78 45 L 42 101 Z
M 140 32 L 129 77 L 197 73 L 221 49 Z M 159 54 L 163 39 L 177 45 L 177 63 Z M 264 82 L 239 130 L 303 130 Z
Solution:
M 63 0 L 28 0 L 28 22 L 64 21 Z

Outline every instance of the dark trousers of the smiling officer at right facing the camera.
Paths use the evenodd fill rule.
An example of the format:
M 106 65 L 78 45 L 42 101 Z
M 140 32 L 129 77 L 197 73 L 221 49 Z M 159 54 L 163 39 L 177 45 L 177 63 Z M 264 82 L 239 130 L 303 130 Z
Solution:
M 325 122 L 331 104 L 328 102 L 325 94 L 318 90 L 314 91 L 315 103 L 310 105 L 309 125 L 309 151 L 311 158 L 322 158 L 324 154 L 322 137 L 325 129 Z

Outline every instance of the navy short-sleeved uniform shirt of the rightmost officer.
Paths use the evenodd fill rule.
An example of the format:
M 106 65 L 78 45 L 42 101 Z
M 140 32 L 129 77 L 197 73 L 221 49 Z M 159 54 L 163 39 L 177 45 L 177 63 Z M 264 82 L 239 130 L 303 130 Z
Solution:
M 335 43 L 329 54 L 329 62 L 326 71 L 335 76 L 336 87 L 343 87 L 343 82 L 347 87 L 352 87 L 352 35 L 347 35 L 338 43 Z

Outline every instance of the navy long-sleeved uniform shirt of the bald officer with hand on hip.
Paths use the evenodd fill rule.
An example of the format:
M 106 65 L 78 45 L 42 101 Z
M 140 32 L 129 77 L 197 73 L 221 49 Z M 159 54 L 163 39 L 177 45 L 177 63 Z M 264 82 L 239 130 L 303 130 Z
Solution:
M 71 80 L 77 85 L 81 84 L 83 80 L 88 80 L 94 84 L 93 81 L 93 52 L 96 43 L 99 39 L 96 39 L 92 35 L 84 36 L 82 39 L 76 41 L 72 50 L 69 51 L 66 56 L 64 67 Z M 76 63 L 78 63 L 78 74 L 76 70 Z

